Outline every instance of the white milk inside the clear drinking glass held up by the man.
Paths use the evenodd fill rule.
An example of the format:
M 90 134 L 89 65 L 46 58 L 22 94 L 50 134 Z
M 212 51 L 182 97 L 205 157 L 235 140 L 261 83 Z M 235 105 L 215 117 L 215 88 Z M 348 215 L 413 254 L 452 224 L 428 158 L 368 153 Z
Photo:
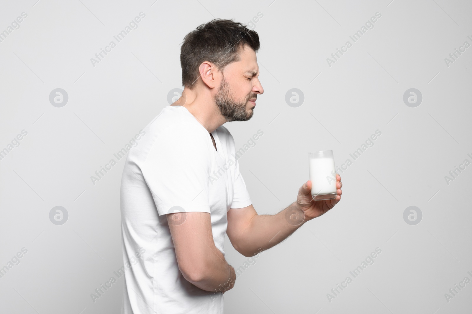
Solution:
M 334 158 L 312 158 L 309 165 L 312 195 L 336 193 L 336 174 L 333 177 Z

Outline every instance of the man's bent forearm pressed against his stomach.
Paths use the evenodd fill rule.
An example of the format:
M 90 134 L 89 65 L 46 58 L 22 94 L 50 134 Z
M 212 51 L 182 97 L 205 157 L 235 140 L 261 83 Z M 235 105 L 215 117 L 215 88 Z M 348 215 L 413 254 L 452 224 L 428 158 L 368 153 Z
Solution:
M 217 248 L 205 252 L 206 265 L 196 281 L 190 281 L 202 290 L 224 292 L 232 289 L 236 281 L 236 273 Z

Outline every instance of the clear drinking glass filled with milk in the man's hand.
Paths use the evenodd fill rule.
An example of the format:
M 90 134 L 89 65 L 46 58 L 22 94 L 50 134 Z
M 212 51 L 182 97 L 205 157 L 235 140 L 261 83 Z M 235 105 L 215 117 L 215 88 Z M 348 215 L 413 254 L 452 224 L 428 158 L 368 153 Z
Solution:
M 315 201 L 333 200 L 336 198 L 336 168 L 333 151 L 308 153 L 312 197 Z

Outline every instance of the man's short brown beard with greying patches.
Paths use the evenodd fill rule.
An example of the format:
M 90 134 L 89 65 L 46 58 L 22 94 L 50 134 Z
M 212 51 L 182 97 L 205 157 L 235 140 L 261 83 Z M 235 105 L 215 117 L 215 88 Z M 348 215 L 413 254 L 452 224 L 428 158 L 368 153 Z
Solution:
M 249 95 L 244 102 L 237 102 L 231 97 L 229 90 L 229 84 L 223 77 L 221 84 L 218 89 L 218 93 L 215 96 L 216 105 L 218 105 L 219 112 L 228 122 L 231 121 L 248 121 L 253 117 L 254 108 L 251 108 L 251 112 L 246 112 L 246 104 L 249 99 L 256 98 L 257 94 Z

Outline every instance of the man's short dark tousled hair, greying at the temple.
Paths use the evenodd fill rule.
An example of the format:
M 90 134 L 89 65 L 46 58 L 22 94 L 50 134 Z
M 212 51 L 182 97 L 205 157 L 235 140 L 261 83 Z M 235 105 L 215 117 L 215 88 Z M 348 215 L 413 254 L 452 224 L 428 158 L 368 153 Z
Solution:
M 241 23 L 215 18 L 189 32 L 180 48 L 182 85 L 194 89 L 200 77 L 198 68 L 203 61 L 210 61 L 219 70 L 240 60 L 239 52 L 244 45 L 257 52 L 259 35 Z

